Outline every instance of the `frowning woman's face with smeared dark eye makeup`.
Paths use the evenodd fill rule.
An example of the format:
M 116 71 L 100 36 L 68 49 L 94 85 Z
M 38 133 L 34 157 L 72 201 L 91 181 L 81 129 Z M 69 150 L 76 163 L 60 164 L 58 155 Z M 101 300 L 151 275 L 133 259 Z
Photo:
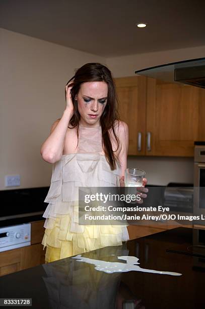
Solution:
M 96 127 L 100 125 L 100 117 L 107 104 L 107 93 L 107 83 L 103 81 L 86 82 L 81 85 L 76 99 L 78 100 L 82 126 Z

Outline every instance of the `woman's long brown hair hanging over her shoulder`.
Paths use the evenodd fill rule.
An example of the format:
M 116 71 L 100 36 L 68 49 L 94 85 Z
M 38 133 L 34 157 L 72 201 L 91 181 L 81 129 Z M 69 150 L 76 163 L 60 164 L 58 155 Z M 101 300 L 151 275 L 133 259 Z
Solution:
M 78 102 L 75 100 L 75 97 L 80 90 L 81 84 L 92 81 L 104 81 L 107 83 L 108 86 L 107 104 L 100 118 L 100 124 L 102 129 L 102 145 L 104 148 L 105 157 L 110 165 L 111 170 L 114 170 L 116 169 L 116 163 L 118 163 L 118 159 L 115 156 L 115 153 L 112 149 L 109 130 L 112 129 L 114 137 L 117 141 L 117 149 L 118 149 L 119 139 L 115 132 L 115 124 L 116 124 L 115 121 L 117 120 L 117 123 L 119 125 L 119 115 L 117 111 L 118 99 L 112 74 L 107 67 L 105 67 L 100 63 L 87 63 L 76 71 L 75 76 L 73 76 L 67 82 L 67 84 L 72 80 L 73 82 L 71 86 L 73 86 L 73 88 L 71 89 L 71 96 L 74 105 L 74 115 L 70 120 L 70 124 L 72 125 L 73 128 L 77 127 L 78 137 L 79 137 L 80 113 L 78 111 Z

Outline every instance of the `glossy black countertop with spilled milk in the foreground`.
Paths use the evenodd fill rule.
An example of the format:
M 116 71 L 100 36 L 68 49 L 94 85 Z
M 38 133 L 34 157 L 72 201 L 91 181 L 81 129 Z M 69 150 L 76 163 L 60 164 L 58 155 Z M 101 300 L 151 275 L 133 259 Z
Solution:
M 38 309 L 204 308 L 204 244 L 205 230 L 177 228 L 82 254 L 123 263 L 122 269 L 126 262 L 117 256 L 137 256 L 141 268 L 181 276 L 105 273 L 67 258 L 0 277 L 0 298 L 32 298 L 32 308 Z

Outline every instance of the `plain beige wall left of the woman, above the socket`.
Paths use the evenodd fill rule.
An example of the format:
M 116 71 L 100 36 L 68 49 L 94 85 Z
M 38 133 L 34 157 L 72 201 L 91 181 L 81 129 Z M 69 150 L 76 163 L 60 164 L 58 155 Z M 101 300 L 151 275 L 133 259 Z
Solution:
M 105 59 L 2 28 L 0 40 L 0 190 L 15 174 L 18 188 L 48 186 L 40 146 L 65 108 L 64 85 L 76 68 Z

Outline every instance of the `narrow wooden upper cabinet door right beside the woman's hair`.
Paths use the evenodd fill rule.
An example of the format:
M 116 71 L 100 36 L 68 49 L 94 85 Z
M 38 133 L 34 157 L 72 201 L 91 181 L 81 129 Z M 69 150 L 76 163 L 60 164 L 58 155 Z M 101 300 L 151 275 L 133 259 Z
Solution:
M 116 78 L 121 120 L 129 127 L 128 155 L 145 155 L 146 77 Z

